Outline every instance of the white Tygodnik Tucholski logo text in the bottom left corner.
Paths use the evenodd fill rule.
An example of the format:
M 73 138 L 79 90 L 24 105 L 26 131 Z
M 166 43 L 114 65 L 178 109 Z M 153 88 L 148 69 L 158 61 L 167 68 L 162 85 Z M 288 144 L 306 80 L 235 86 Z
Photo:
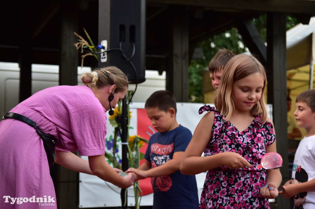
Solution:
M 4 202 L 8 202 L 9 203 L 9 199 L 10 199 L 10 204 L 22 204 L 23 202 L 37 202 L 40 206 L 56 206 L 56 201 L 54 201 L 54 197 L 51 196 L 46 196 L 44 195 L 43 197 L 35 197 L 32 196 L 30 198 L 27 197 L 10 197 L 10 196 L 3 196 L 3 198 L 5 198 Z M 48 198 L 48 201 L 47 201 Z M 42 203 L 43 202 L 43 203 Z M 49 204 L 48 204 L 49 203 Z

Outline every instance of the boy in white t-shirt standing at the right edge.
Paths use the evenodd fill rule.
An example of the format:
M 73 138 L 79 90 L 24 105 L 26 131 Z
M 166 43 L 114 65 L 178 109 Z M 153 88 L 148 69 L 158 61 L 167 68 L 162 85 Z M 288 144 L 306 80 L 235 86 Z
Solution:
M 294 112 L 297 126 L 306 129 L 306 136 L 296 150 L 292 180 L 279 192 L 285 198 L 294 197 L 295 209 L 315 208 L 315 89 L 302 92 L 296 98 Z

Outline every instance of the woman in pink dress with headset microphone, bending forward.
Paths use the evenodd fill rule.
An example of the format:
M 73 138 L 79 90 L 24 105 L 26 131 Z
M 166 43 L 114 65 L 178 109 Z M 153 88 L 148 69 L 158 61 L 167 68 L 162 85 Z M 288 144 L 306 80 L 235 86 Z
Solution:
M 81 79 L 85 86 L 46 88 L 10 112 L 55 137 L 55 163 L 128 188 L 132 176 L 121 177 L 104 157 L 106 111 L 124 98 L 128 79 L 116 67 L 84 73 Z M 71 153 L 75 151 L 89 161 Z M 39 208 L 36 198 L 56 201 L 43 139 L 34 127 L 12 118 L 0 122 L 0 196 L 0 208 Z M 57 208 L 52 205 L 45 208 Z

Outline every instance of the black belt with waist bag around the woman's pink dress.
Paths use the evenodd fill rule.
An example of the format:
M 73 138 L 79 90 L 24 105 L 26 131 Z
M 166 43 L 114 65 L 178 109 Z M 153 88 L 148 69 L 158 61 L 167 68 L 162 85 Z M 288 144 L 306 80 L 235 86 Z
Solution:
M 38 135 L 43 139 L 43 144 L 44 144 L 45 152 L 47 155 L 49 167 L 53 166 L 53 164 L 55 162 L 55 156 L 56 156 L 55 146 L 56 146 L 56 141 L 57 141 L 53 135 L 45 134 L 42 130 L 40 130 L 36 126 L 36 122 L 28 119 L 27 117 L 25 117 L 23 115 L 9 112 L 9 113 L 5 114 L 2 118 L 3 119 L 13 118 L 13 119 L 22 121 L 22 122 L 26 123 L 27 125 L 30 125 L 33 128 L 35 128 Z

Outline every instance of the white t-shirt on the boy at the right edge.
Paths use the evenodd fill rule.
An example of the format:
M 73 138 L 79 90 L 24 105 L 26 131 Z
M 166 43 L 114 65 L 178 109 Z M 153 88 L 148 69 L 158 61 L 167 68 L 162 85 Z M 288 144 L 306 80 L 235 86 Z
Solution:
M 301 140 L 294 157 L 292 178 L 301 183 L 315 179 L 315 135 Z M 303 208 L 315 208 L 315 191 L 307 192 Z

